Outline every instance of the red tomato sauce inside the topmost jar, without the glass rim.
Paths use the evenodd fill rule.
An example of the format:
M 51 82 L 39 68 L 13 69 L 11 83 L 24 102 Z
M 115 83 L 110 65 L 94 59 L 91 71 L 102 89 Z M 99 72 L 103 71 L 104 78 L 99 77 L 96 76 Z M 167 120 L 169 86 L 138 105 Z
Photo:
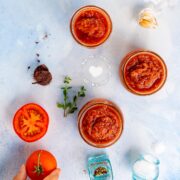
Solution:
M 106 17 L 98 10 L 82 11 L 74 24 L 77 38 L 86 44 L 96 44 L 104 41 L 108 34 Z

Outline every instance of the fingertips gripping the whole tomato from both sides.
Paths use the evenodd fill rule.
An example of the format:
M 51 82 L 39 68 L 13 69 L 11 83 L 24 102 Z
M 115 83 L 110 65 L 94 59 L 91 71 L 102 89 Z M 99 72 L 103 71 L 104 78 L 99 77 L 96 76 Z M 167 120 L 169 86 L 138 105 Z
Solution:
M 55 169 L 51 174 L 49 174 L 44 180 L 58 180 L 60 174 L 60 169 Z M 27 179 L 27 173 L 26 173 L 26 167 L 23 164 L 17 175 L 13 178 L 13 180 L 26 180 Z

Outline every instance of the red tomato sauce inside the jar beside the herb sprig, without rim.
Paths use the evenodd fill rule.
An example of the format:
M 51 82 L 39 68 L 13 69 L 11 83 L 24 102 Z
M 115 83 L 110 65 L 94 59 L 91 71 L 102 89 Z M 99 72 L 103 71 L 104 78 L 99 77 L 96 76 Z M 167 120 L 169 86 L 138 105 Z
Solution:
M 122 120 L 117 110 L 99 104 L 89 109 L 82 120 L 83 134 L 91 142 L 103 144 L 113 141 L 122 131 Z

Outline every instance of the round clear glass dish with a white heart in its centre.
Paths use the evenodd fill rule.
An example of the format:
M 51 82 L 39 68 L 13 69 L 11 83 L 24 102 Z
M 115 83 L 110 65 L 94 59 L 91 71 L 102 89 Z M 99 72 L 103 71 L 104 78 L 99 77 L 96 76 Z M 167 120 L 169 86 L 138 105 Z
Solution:
M 88 85 L 102 86 L 107 84 L 111 78 L 111 65 L 104 56 L 89 56 L 81 63 L 81 74 Z

